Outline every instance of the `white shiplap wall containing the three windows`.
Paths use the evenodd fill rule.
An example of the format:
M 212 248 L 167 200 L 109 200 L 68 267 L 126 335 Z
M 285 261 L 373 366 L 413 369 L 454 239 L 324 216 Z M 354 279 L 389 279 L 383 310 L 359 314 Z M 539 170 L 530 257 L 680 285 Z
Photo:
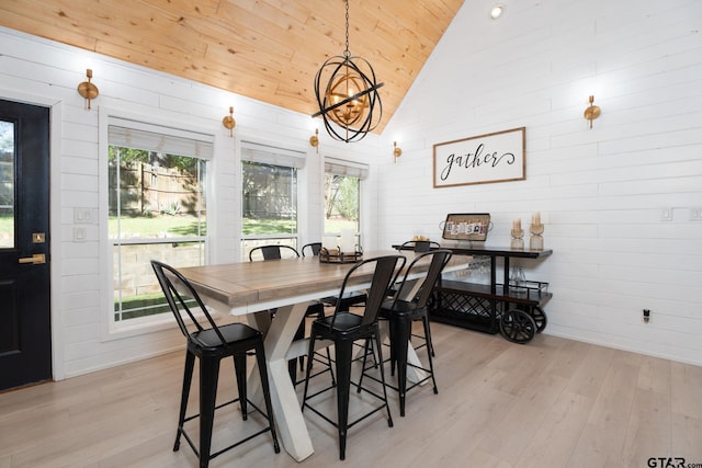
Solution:
M 92 111 L 77 93 L 84 70 L 93 70 L 100 96 Z M 0 99 L 52 107 L 52 323 L 55 378 L 70 377 L 184 344 L 180 332 L 111 333 L 111 250 L 106 239 L 106 170 L 100 160 L 107 114 L 215 135 L 214 180 L 208 199 L 212 263 L 240 258 L 239 142 L 242 139 L 307 153 L 301 173 L 301 241 L 321 239 L 324 155 L 367 162 L 377 137 L 343 145 L 319 135 L 320 151 L 308 145 L 309 116 L 214 88 L 131 66 L 48 41 L 0 28 Z M 236 138 L 222 118 L 235 109 Z M 303 205 L 304 204 L 304 205 Z M 73 212 L 98 214 L 81 225 L 86 241 L 73 240 Z M 374 217 L 372 213 L 365 216 Z M 370 239 L 369 233 L 364 238 Z

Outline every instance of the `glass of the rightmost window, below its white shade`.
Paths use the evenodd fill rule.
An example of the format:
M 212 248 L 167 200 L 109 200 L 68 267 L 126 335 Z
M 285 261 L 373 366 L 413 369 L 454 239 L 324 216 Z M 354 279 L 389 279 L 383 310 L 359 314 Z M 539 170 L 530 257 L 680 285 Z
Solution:
M 325 232 L 360 230 L 360 179 L 325 174 Z

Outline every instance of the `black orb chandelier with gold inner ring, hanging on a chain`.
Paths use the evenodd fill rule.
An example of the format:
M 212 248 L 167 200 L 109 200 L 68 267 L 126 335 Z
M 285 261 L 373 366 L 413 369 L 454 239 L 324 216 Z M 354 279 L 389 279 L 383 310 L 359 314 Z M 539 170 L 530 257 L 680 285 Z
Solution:
M 325 61 L 315 77 L 315 96 L 329 136 L 340 141 L 358 141 L 375 129 L 383 117 L 373 67 L 349 52 L 349 0 L 347 4 L 347 48 L 343 56 Z

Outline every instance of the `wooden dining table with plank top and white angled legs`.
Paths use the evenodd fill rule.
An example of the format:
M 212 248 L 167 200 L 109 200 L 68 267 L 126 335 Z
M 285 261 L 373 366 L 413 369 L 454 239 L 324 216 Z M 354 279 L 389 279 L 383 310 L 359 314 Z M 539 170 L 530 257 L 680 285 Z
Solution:
M 407 264 L 415 258 L 411 251 L 365 252 L 364 259 L 381 255 L 404 255 Z M 444 272 L 466 267 L 472 260 L 454 255 Z M 273 413 L 285 450 L 297 461 L 314 453 L 299 401 L 291 379 L 287 361 L 307 354 L 307 340 L 294 340 L 310 301 L 338 295 L 347 272 L 353 263 L 322 263 L 318 256 L 241 262 L 181 269 L 205 305 L 223 313 L 245 316 L 246 320 L 264 333 L 265 356 Z M 427 267 L 429 264 L 427 263 Z M 418 269 L 420 272 L 422 269 Z M 370 287 L 374 270 L 363 267 L 356 282 L 347 290 Z M 426 273 L 426 269 L 424 269 Z M 276 309 L 271 320 L 271 309 Z M 418 362 L 409 346 L 408 359 Z M 260 396 L 258 372 L 249 375 L 250 395 Z

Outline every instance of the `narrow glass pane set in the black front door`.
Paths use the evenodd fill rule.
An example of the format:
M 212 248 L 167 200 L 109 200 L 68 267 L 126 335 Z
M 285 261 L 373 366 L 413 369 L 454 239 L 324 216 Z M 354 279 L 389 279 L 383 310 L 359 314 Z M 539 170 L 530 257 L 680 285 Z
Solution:
M 14 124 L 0 121 L 0 249 L 14 247 Z

